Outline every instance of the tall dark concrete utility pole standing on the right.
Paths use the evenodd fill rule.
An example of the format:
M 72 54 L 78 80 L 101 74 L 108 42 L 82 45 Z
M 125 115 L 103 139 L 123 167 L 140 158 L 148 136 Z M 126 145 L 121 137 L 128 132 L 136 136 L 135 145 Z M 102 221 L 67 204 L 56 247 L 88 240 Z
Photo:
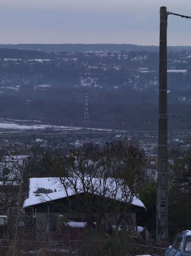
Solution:
M 167 8 L 160 8 L 157 244 L 168 240 Z

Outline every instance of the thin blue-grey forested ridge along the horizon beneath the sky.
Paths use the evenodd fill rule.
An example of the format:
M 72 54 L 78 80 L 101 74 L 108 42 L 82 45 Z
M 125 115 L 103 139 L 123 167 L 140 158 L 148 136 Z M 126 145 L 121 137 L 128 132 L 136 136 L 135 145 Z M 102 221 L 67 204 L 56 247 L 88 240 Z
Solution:
M 0 44 L 0 48 L 25 49 L 45 52 L 84 52 L 84 51 L 158 51 L 158 46 L 135 44 Z M 169 50 L 191 50 L 191 46 L 170 46 Z

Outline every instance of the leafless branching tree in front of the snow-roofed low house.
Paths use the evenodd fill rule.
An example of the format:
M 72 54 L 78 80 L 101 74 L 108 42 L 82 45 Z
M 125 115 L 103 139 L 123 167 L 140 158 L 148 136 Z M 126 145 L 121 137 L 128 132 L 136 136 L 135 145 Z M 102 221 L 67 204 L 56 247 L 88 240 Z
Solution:
M 98 151 L 87 145 L 71 150 L 56 173 L 68 198 L 64 211 L 84 216 L 89 226 L 96 222 L 100 230 L 111 223 L 132 225 L 129 209 L 140 173 L 141 153 L 134 146 L 118 142 L 107 143 Z

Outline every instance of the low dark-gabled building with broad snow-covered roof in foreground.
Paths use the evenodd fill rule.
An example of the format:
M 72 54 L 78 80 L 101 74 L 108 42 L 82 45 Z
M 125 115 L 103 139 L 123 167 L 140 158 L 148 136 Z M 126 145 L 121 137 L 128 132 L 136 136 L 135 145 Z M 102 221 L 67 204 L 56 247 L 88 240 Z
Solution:
M 100 178 L 84 178 L 86 184 L 91 182 L 94 190 L 84 191 L 82 184 L 78 179 L 67 178 L 71 182 L 76 183 L 76 191 L 71 186 L 64 189 L 59 178 L 31 178 L 29 185 L 28 198 L 24 201 L 23 208 L 33 207 L 36 212 L 36 227 L 41 232 L 50 232 L 55 230 L 58 223 L 58 216 L 64 216 L 67 221 L 86 222 L 84 196 L 88 195 L 88 199 L 92 202 L 92 221 L 96 222 L 100 216 L 102 208 L 107 204 L 108 222 L 112 224 L 113 205 L 121 208 L 127 202 L 125 201 L 124 191 L 116 189 L 116 180 L 108 178 L 106 180 L 107 192 L 103 193 L 103 180 Z M 127 188 L 128 189 L 128 188 Z M 109 192 L 108 192 L 109 191 Z M 127 190 L 128 191 L 128 190 Z M 127 192 L 126 191 L 126 192 Z M 126 193 L 125 192 L 125 193 Z M 136 196 L 133 196 L 129 211 L 126 213 L 128 218 L 136 223 L 136 215 L 145 211 L 144 204 Z M 120 211 L 118 217 L 120 216 Z M 86 222 L 87 223 L 87 222 Z

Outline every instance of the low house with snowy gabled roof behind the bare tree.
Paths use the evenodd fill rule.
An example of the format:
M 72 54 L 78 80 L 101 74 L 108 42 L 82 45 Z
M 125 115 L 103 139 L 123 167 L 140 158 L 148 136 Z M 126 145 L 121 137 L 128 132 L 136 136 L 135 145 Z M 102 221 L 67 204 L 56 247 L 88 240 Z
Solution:
M 86 202 L 91 205 L 88 219 Z M 115 224 L 116 216 L 121 222 L 135 225 L 137 216 L 146 210 L 122 179 L 89 177 L 31 178 L 23 208 L 34 208 L 36 228 L 42 233 L 56 231 L 61 216 L 67 224 L 73 221 L 89 225 L 91 220 L 96 225 L 102 213 L 107 216 L 106 225 Z

